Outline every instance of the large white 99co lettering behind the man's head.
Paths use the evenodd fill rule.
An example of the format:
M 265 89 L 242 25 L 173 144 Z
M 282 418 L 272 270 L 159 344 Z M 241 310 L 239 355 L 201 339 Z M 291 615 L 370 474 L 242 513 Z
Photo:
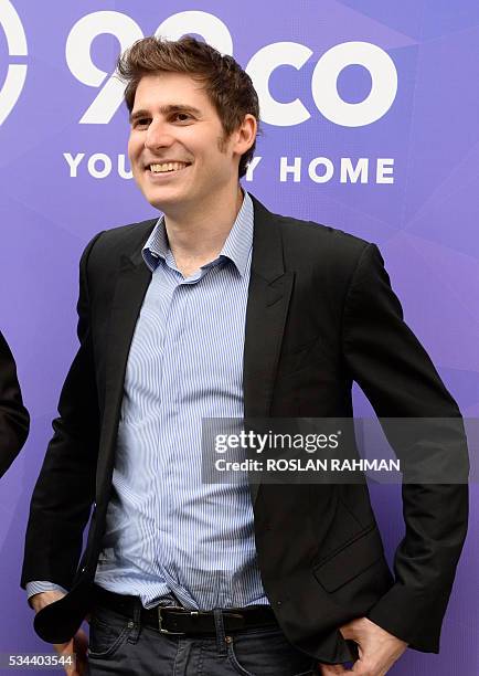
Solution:
M 81 124 L 106 125 L 123 103 L 125 85 L 98 68 L 92 61 L 95 38 L 108 33 L 118 39 L 121 51 L 143 33 L 130 17 L 115 11 L 98 11 L 75 23 L 66 41 L 66 62 L 83 84 L 99 88 L 95 99 L 79 119 Z M 233 39 L 227 27 L 214 14 L 201 11 L 179 12 L 166 19 L 156 35 L 178 40 L 187 33 L 201 35 L 222 54 L 233 54 Z M 289 103 L 275 101 L 269 92 L 269 77 L 281 65 L 299 71 L 312 51 L 298 42 L 275 42 L 254 54 L 246 72 L 258 93 L 262 119 L 278 127 L 299 125 L 311 117 L 299 98 Z M 338 77 L 349 65 L 361 65 L 371 75 L 372 87 L 364 101 L 349 103 L 338 92 Z M 311 93 L 318 110 L 330 122 L 343 127 L 364 127 L 383 117 L 397 93 L 397 71 L 391 56 L 370 42 L 344 42 L 329 49 L 319 59 L 311 77 Z

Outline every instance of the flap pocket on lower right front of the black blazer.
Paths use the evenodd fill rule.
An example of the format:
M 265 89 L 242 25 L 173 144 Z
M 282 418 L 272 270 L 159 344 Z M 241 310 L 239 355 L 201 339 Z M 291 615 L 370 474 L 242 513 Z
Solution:
M 382 556 L 383 543 L 374 525 L 312 570 L 326 591 L 333 592 L 360 575 Z

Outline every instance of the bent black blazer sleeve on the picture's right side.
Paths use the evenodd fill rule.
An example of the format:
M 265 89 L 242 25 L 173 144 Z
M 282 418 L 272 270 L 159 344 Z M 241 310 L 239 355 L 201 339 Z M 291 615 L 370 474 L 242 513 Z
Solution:
M 468 519 L 468 452 L 457 403 L 446 390 L 426 351 L 403 320 L 379 249 L 362 251 L 349 286 L 343 315 L 343 353 L 352 378 L 381 419 L 411 418 L 419 433 L 407 448 L 408 462 L 440 453 L 459 467 L 455 483 L 402 485 L 405 537 L 394 558 L 395 583 L 368 617 L 411 647 L 439 651 L 444 614 Z M 447 430 L 422 439 L 421 420 L 436 419 L 427 430 Z M 455 423 L 451 427 L 451 419 Z M 383 424 L 383 423 L 382 423 Z M 383 429 L 387 435 L 386 425 Z M 453 432 L 451 432 L 453 429 Z M 391 441 L 390 436 L 388 440 Z M 439 447 L 440 446 L 440 447 Z M 401 457 L 404 448 L 394 446 Z

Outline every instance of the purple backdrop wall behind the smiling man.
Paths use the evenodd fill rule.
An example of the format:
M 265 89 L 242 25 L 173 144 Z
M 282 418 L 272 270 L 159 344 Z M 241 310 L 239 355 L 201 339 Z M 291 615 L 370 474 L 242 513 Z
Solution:
M 97 231 L 153 214 L 125 178 L 127 116 L 109 76 L 120 45 L 158 27 L 172 38 L 201 34 L 247 66 L 267 123 L 244 186 L 273 211 L 376 242 L 406 320 L 464 414 L 478 416 L 477 0 L 302 0 L 294 9 L 281 0 L 270 9 L 0 0 L 0 316 L 32 414 L 0 486 L 0 653 L 49 652 L 19 589 L 28 506 L 76 349 L 79 254 Z M 296 173 L 284 166 L 281 175 L 295 158 Z M 369 412 L 360 392 L 355 401 Z M 403 532 L 400 490 L 372 493 L 391 560 Z M 471 494 L 441 653 L 409 651 L 391 674 L 479 674 L 477 485 Z

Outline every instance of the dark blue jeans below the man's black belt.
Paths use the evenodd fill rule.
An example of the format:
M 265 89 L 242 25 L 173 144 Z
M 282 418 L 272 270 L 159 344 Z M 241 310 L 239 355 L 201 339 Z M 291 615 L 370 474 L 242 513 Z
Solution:
M 215 636 L 173 636 L 96 606 L 89 629 L 88 674 L 103 676 L 306 676 L 316 661 L 292 647 L 277 627 L 225 635 L 221 611 Z

